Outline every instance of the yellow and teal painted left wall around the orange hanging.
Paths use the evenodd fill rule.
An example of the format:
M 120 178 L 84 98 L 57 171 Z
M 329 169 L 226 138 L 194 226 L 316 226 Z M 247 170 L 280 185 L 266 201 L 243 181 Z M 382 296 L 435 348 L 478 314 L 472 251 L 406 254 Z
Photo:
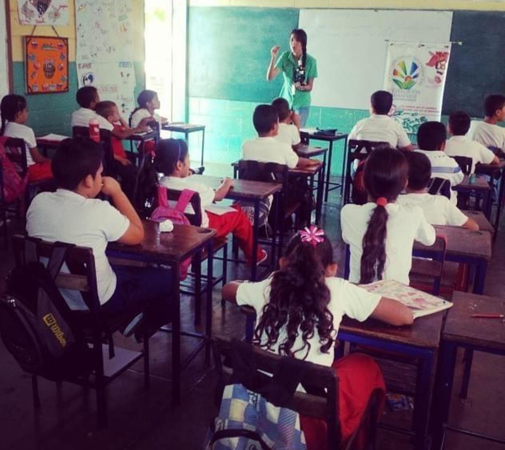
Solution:
M 143 0 L 132 0 L 135 22 L 134 56 L 136 90 L 143 89 L 144 82 L 144 39 L 143 39 Z M 77 109 L 75 93 L 77 91 L 77 71 L 75 65 L 76 33 L 74 1 L 70 0 L 70 21 L 68 26 L 56 27 L 61 37 L 69 40 L 69 92 L 59 94 L 25 95 L 25 70 L 23 36 L 30 35 L 31 25 L 20 25 L 18 20 L 17 0 L 10 0 L 11 48 L 13 59 L 13 89 L 14 93 L 25 95 L 30 110 L 29 123 L 35 135 L 58 133 L 70 135 L 70 115 Z M 35 35 L 54 36 L 55 32 L 49 26 L 39 26 Z

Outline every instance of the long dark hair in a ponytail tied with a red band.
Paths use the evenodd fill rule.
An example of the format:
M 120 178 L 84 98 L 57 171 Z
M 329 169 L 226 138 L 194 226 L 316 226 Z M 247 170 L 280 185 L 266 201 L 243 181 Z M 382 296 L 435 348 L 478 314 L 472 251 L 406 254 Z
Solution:
M 405 188 L 409 165 L 403 153 L 394 148 L 374 150 L 365 162 L 364 183 L 369 201 L 384 197 L 387 202 L 396 200 Z M 384 205 L 377 205 L 370 216 L 363 236 L 360 284 L 382 279 L 386 263 L 386 237 L 388 213 Z

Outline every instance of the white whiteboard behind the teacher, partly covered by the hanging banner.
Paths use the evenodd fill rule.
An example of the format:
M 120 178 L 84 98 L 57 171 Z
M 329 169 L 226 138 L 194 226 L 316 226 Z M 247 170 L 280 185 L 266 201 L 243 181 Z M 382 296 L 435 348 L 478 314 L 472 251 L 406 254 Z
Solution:
M 312 105 L 368 109 L 382 89 L 386 42 L 448 42 L 452 12 L 300 10 L 307 51 L 317 60 Z

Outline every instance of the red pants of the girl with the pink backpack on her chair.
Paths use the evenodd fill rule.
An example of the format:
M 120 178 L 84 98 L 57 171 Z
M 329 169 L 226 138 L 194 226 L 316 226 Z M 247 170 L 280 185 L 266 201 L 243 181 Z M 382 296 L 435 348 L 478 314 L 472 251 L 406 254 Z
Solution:
M 238 240 L 238 246 L 244 252 L 248 261 L 252 259 L 252 226 L 239 205 L 233 205 L 237 212 L 227 212 L 223 215 L 207 212 L 209 228 L 216 230 L 216 238 L 223 238 L 232 233 Z M 261 248 L 258 246 L 257 258 L 261 257 Z

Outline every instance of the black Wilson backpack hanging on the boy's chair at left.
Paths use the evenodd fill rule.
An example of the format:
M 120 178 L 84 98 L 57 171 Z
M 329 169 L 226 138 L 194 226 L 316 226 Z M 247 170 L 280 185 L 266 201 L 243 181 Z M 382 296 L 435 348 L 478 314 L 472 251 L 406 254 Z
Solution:
M 47 267 L 38 261 L 36 240 L 26 238 L 24 245 L 23 264 L 11 271 L 0 296 L 2 340 L 28 373 L 55 380 L 82 375 L 90 350 L 55 284 L 72 245 L 56 242 Z

